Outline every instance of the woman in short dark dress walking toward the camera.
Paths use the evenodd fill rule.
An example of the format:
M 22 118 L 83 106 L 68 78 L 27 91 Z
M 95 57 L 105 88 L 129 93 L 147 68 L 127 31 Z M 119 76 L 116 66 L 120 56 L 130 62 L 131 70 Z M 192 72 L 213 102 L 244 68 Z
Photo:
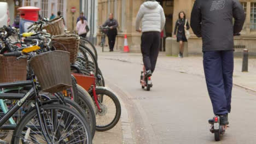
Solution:
M 187 25 L 185 26 L 186 21 L 187 21 Z M 183 57 L 184 42 L 188 41 L 185 35 L 185 28 L 189 29 L 190 27 L 184 11 L 181 11 L 179 12 L 179 19 L 176 21 L 174 35 L 173 35 L 174 38 L 177 37 L 177 42 L 179 42 L 179 57 L 181 58 Z

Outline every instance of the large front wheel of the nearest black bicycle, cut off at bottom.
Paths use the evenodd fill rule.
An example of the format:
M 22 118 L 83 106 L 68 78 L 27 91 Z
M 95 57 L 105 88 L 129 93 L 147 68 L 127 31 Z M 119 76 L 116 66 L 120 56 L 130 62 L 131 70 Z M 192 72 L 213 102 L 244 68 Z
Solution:
M 40 110 L 50 143 L 92 143 L 88 123 L 74 109 L 53 104 L 41 106 Z M 48 143 L 39 125 L 37 109 L 32 109 L 16 127 L 11 143 Z

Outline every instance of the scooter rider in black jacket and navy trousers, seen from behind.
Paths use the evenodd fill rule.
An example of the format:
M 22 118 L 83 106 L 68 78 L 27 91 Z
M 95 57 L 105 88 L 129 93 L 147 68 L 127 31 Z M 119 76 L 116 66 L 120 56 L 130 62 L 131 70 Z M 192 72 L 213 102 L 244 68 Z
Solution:
M 196 0 L 191 12 L 190 26 L 202 37 L 203 68 L 213 112 L 222 125 L 229 124 L 231 111 L 234 35 L 239 35 L 244 22 L 245 11 L 238 0 Z

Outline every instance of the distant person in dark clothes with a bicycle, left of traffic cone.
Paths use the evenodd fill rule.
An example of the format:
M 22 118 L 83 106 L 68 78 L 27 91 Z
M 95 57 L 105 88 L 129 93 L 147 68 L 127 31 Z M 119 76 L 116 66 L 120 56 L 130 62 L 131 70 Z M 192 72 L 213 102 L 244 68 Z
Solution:
M 117 31 L 118 22 L 117 20 L 114 19 L 113 13 L 109 14 L 109 19 L 102 26 L 109 27 L 109 31 L 107 32 L 109 51 L 114 51 L 115 38 L 117 37 L 117 34 L 118 34 L 118 31 Z

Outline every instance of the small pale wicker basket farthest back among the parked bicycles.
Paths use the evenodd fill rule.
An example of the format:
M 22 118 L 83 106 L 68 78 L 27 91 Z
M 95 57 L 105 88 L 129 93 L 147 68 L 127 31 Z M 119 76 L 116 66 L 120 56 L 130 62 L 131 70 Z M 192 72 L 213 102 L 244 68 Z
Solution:
M 46 29 L 51 35 L 61 35 L 64 34 L 64 24 L 62 17 L 55 18 L 51 20 L 48 25 L 44 26 L 43 29 Z

